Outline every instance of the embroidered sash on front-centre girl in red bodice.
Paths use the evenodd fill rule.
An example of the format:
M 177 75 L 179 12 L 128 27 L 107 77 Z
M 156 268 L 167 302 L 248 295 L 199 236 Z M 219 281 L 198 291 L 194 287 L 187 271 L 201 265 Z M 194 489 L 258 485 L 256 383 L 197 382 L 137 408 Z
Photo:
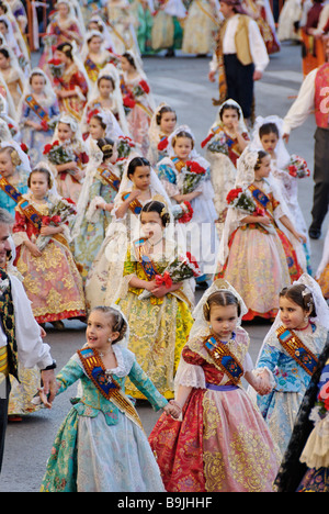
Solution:
M 203 344 L 216 367 L 228 375 L 229 379 L 237 386 L 243 375 L 243 368 L 227 346 L 213 335 L 206 336 Z

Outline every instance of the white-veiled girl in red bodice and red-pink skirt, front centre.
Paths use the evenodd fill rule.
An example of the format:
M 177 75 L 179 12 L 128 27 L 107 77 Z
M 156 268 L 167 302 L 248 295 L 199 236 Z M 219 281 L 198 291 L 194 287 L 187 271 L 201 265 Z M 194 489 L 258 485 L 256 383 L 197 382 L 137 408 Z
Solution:
M 193 312 L 175 377 L 181 421 L 161 416 L 149 436 L 168 492 L 272 492 L 280 452 L 261 413 L 242 389 L 252 375 L 247 308 L 216 280 Z

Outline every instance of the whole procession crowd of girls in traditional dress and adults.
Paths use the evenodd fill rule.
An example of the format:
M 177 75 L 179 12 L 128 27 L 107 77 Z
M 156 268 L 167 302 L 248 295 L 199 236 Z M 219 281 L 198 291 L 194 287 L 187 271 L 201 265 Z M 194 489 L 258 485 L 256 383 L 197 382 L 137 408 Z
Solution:
M 37 67 L 24 5 L 0 13 L 0 458 L 7 418 L 77 383 L 42 491 L 328 492 L 329 236 L 317 270 L 309 238 L 328 211 L 329 65 L 262 118 L 253 85 L 280 51 L 265 3 L 58 0 Z M 144 70 L 177 48 L 218 74 L 202 142 Z M 310 171 L 286 141 L 313 108 L 308 228 Z M 70 320 L 86 344 L 55 380 L 45 328 Z M 149 437 L 145 400 L 164 411 Z

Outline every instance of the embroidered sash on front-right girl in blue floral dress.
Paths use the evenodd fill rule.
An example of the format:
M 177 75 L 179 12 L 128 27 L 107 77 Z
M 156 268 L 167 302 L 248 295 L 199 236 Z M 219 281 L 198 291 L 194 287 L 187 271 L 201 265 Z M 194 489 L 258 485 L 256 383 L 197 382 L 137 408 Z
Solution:
M 293 331 L 280 326 L 276 331 L 277 339 L 287 354 L 308 373 L 313 375 L 318 359 Z

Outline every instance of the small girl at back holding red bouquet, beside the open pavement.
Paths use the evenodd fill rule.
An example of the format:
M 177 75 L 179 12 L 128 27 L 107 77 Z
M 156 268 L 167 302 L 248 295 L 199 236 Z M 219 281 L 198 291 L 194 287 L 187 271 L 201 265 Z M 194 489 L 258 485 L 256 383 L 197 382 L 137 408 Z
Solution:
M 148 130 L 155 110 L 152 96 L 136 55 L 125 52 L 121 58 L 121 90 L 129 133 L 146 157 L 149 146 Z

